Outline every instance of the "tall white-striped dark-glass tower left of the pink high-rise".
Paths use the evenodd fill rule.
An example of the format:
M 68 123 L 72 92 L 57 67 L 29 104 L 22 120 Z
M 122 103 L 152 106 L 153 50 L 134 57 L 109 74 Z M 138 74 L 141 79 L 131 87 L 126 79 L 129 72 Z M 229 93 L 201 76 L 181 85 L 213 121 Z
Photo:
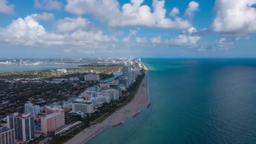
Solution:
M 21 115 L 18 112 L 15 112 L 13 115 L 8 115 L 7 127 L 14 128 L 16 139 L 29 141 L 35 138 L 34 115 L 32 114 Z

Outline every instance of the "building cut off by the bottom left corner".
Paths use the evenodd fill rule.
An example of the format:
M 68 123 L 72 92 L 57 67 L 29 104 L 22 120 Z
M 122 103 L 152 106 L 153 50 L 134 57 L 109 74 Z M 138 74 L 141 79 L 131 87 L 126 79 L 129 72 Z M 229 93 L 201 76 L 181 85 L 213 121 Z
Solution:
M 0 128 L 0 144 L 16 144 L 14 128 Z

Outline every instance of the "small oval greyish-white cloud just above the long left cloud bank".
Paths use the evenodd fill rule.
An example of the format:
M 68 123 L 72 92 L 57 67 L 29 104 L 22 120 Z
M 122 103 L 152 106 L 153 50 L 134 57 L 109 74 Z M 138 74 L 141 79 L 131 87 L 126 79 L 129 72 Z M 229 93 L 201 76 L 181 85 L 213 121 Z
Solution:
M 81 17 L 77 17 L 76 19 L 66 17 L 57 21 L 56 28 L 59 32 L 69 32 L 78 29 L 88 31 L 91 29 L 91 23 L 88 19 L 83 19 Z

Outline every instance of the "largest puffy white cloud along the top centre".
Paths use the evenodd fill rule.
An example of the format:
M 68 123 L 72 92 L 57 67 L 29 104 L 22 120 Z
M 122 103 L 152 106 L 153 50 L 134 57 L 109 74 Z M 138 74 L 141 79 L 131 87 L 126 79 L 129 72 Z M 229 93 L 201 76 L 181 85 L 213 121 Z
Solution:
M 187 29 L 187 20 L 175 17 L 167 18 L 165 0 L 153 0 L 152 10 L 148 5 L 142 5 L 144 0 L 131 0 L 121 9 L 117 0 L 67 0 L 65 10 L 77 15 L 92 14 L 110 27 L 146 26 Z M 192 8 L 189 8 L 192 9 Z M 190 12 L 190 11 L 189 11 Z

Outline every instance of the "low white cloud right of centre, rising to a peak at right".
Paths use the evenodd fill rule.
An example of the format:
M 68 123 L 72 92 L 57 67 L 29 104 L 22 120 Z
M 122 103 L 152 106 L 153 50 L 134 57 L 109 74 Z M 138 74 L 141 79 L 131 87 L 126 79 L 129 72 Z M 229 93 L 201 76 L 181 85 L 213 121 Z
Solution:
M 196 47 L 198 40 L 201 39 L 199 35 L 193 35 L 197 32 L 197 29 L 191 27 L 187 29 L 187 32 L 182 32 L 175 38 L 162 40 L 161 36 L 151 38 L 152 44 L 165 44 L 165 45 L 175 45 L 184 47 Z

